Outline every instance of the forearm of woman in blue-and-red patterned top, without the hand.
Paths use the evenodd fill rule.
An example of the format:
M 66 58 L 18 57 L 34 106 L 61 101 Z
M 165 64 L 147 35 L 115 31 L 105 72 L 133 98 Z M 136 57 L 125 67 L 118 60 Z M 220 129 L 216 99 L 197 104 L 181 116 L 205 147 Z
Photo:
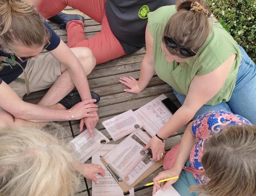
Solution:
M 191 126 L 192 126 L 192 123 L 188 125 L 188 127 L 186 128 L 186 131 L 182 136 L 178 155 L 173 165 L 173 167 L 179 171 L 182 170 L 186 161 L 189 159 L 191 149 L 193 148 L 193 146 L 197 141 L 197 139 L 194 137 L 194 135 L 191 132 Z

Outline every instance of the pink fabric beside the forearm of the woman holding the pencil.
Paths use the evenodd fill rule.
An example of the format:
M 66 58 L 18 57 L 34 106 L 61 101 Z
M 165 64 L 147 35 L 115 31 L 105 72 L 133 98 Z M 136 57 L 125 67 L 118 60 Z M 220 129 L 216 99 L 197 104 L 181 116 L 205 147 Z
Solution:
M 173 167 L 175 159 L 178 155 L 178 149 L 180 148 L 181 142 L 172 147 L 163 158 L 163 169 L 167 170 Z

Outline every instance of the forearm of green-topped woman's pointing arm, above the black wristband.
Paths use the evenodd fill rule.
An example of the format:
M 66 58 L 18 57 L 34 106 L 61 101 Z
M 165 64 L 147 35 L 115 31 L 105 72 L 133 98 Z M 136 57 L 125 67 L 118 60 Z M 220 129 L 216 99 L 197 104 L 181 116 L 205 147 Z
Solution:
M 196 111 L 190 110 L 182 105 L 168 120 L 168 122 L 157 132 L 161 138 L 168 138 L 171 134 L 186 125 L 195 115 Z

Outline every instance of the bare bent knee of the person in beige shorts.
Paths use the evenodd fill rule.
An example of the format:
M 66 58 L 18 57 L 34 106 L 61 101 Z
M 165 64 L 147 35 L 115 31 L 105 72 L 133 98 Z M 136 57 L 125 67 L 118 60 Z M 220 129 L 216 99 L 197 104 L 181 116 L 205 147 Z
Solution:
M 89 75 L 96 65 L 96 58 L 94 57 L 92 50 L 86 47 L 80 47 L 79 55 L 77 57 L 81 62 L 86 75 Z

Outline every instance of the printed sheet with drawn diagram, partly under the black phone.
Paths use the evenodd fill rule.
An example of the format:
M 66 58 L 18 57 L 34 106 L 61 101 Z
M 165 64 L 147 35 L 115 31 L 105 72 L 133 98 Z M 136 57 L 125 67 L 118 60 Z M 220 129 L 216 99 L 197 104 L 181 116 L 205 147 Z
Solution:
M 134 111 L 136 116 L 144 124 L 144 130 L 146 130 L 151 137 L 153 137 L 160 128 L 167 123 L 171 116 L 173 116 L 162 103 L 162 100 L 166 98 L 164 94 L 161 94 L 159 97 Z

